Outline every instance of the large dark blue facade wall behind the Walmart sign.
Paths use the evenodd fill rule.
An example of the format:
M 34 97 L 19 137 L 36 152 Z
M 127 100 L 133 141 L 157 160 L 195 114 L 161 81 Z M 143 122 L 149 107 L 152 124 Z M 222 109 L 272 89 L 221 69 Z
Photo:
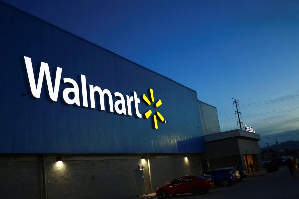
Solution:
M 2 2 L 0 18 L 0 153 L 205 151 L 195 91 Z M 86 75 L 87 88 L 89 84 L 99 86 L 125 98 L 135 91 L 141 101 L 140 113 L 159 111 L 169 122 L 158 122 L 158 129 L 153 129 L 152 116 L 135 116 L 134 102 L 133 116 L 109 113 L 107 101 L 106 110 L 99 111 L 98 97 L 95 109 L 67 106 L 62 102 L 62 92 L 69 85 L 64 83 L 60 84 L 58 101 L 51 102 L 45 78 L 40 98 L 33 99 L 23 56 L 31 58 L 36 81 L 40 62 L 45 62 L 52 83 L 56 67 L 61 67 L 61 78 L 74 79 L 80 91 L 81 74 Z M 149 97 L 149 88 L 155 101 L 161 99 L 160 107 L 142 101 L 141 95 Z M 80 98 L 82 104 L 81 93 Z M 179 144 L 178 149 L 180 141 L 189 139 L 193 146 Z

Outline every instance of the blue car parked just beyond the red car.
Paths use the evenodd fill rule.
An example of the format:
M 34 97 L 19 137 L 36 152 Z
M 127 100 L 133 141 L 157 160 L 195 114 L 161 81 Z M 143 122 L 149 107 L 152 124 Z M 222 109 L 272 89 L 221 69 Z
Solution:
M 215 184 L 220 184 L 224 187 L 231 185 L 232 183 L 239 181 L 240 175 L 237 175 L 235 171 L 230 169 L 214 169 L 205 172 L 202 175 L 206 178 L 212 178 Z

